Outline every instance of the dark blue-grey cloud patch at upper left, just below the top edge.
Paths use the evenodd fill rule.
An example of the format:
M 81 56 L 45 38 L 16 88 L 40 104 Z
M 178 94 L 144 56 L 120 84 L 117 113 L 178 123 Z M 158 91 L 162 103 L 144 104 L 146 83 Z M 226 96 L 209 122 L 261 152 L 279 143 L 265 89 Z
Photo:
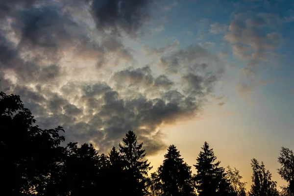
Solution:
M 76 24 L 59 7 L 30 7 L 18 14 L 14 25 L 20 27 L 21 44 L 47 49 L 58 49 L 68 41 Z M 24 47 L 24 46 L 22 46 Z

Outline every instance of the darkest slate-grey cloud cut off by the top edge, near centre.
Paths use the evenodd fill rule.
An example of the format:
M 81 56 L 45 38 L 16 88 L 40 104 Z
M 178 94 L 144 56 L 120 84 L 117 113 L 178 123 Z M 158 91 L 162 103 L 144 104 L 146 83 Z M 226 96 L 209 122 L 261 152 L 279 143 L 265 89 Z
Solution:
M 113 30 L 133 37 L 149 18 L 154 0 L 93 0 L 91 12 L 98 30 Z

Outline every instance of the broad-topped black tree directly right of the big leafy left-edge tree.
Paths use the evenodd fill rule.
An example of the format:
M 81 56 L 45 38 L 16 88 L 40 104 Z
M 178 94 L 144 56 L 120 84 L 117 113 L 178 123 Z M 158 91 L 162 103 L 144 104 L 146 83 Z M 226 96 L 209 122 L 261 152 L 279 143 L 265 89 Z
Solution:
M 63 164 L 58 191 L 62 196 L 95 195 L 99 184 L 99 170 L 104 167 L 92 144 L 67 145 L 67 158 Z

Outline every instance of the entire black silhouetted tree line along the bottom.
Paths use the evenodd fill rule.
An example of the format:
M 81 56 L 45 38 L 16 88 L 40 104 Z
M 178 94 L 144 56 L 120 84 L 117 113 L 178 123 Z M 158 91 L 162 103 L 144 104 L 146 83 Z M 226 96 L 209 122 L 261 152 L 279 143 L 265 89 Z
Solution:
M 152 169 L 143 143 L 128 131 L 108 154 L 92 144 L 63 146 L 63 128 L 41 129 L 17 95 L 0 93 L 1 191 L 13 196 L 294 196 L 294 153 L 282 147 L 278 173 L 288 182 L 277 190 L 263 162 L 251 160 L 247 192 L 234 168 L 220 167 L 213 148 L 201 147 L 193 167 L 171 145 L 162 165 Z

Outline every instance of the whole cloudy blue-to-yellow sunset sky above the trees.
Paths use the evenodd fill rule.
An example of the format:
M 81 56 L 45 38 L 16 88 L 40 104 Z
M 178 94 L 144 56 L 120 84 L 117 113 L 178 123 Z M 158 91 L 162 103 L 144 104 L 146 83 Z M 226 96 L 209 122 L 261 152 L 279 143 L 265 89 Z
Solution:
M 247 189 L 252 158 L 285 184 L 293 51 L 293 0 L 0 2 L 0 90 L 41 128 L 100 153 L 133 130 L 153 171 L 169 145 L 192 166 L 207 141 Z

